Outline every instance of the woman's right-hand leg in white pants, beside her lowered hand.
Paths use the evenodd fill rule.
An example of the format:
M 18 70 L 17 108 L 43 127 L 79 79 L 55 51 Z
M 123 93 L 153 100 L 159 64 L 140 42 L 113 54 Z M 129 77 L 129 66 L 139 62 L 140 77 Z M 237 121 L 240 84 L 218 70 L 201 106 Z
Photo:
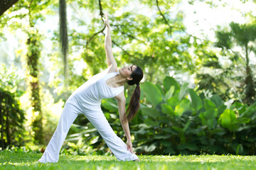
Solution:
M 120 161 L 133 161 L 138 159 L 136 154 L 127 150 L 127 145 L 114 133 L 102 111 L 86 112 L 86 118 L 100 132 L 103 140 L 107 143 L 115 157 Z

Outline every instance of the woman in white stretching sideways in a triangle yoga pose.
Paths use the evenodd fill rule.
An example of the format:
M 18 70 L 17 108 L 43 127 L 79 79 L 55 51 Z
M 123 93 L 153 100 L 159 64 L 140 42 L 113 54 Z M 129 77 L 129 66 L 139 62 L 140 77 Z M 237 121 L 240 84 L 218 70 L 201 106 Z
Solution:
M 117 72 L 117 62 L 112 55 L 112 41 L 110 35 L 110 22 L 105 13 L 103 18 L 107 33 L 105 35 L 105 51 L 108 68 L 105 72 L 96 74 L 90 80 L 82 84 L 68 98 L 63 108 L 63 113 L 50 139 L 46 151 L 38 162 L 58 162 L 60 148 L 68 134 L 70 126 L 73 124 L 78 114 L 83 114 L 90 120 L 90 123 L 100 132 L 100 135 L 110 147 L 110 150 L 122 161 L 139 161 L 136 154 L 132 152 L 132 141 L 129 132 L 128 120 L 132 120 L 139 109 L 140 88 L 139 81 L 142 80 L 143 72 L 136 65 L 124 67 Z M 127 111 L 125 111 L 124 84 L 136 84 L 134 94 L 129 101 Z M 100 108 L 102 98 L 116 98 L 118 104 L 119 118 L 125 135 L 127 145 L 114 133 L 105 115 Z M 126 115 L 128 113 L 128 115 Z

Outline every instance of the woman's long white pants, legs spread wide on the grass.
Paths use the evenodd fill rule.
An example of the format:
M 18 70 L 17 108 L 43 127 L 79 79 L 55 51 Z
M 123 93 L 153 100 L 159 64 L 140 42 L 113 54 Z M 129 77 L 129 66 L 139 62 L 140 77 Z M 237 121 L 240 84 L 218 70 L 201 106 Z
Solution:
M 43 156 L 39 159 L 39 162 L 58 162 L 60 149 L 68 134 L 68 130 L 75 121 L 75 118 L 78 117 L 78 114 L 81 113 L 84 114 L 97 131 L 100 132 L 103 140 L 105 140 L 107 146 L 110 147 L 110 150 L 119 161 L 133 161 L 138 159 L 137 155 L 129 152 L 127 145 L 117 137 L 102 111 L 83 111 L 80 103 L 74 96 L 70 96 L 60 115 L 57 129 L 50 139 Z

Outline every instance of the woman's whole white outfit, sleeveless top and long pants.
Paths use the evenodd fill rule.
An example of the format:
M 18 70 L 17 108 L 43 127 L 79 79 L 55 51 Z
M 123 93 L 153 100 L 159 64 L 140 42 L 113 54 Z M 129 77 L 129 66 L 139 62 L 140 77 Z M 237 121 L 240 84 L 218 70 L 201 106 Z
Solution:
M 106 72 L 102 72 L 96 74 L 73 92 L 65 103 L 57 129 L 39 162 L 58 162 L 60 148 L 78 114 L 85 115 L 90 123 L 95 126 L 118 160 L 132 161 L 138 159 L 137 155 L 129 152 L 127 145 L 114 133 L 100 108 L 102 98 L 113 98 L 124 91 L 124 86 L 112 88 L 106 84 L 107 79 L 117 74 L 119 73 L 106 74 Z

